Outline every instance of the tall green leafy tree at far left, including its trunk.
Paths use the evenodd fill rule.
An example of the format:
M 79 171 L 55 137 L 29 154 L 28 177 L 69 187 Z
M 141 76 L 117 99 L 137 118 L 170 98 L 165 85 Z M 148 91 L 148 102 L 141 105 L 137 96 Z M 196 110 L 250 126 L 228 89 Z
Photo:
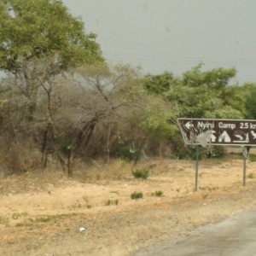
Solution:
M 26 130 L 34 127 L 32 136 L 41 134 L 46 166 L 49 151 L 58 153 L 61 147 L 55 122 L 63 76 L 84 64 L 102 65 L 100 46 L 96 35 L 85 33 L 83 21 L 59 0 L 0 0 L 0 34 L 0 70 L 11 74 L 9 85 L 15 90 L 9 91 L 19 102 L 19 108 L 15 102 L 6 108 L 18 110 L 15 116 L 20 124 L 28 122 Z

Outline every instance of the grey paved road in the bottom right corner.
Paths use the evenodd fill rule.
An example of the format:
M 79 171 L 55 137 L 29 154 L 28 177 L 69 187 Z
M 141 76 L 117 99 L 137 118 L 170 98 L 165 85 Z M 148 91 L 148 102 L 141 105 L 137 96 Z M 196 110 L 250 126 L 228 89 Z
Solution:
M 134 256 L 256 256 L 256 208 Z

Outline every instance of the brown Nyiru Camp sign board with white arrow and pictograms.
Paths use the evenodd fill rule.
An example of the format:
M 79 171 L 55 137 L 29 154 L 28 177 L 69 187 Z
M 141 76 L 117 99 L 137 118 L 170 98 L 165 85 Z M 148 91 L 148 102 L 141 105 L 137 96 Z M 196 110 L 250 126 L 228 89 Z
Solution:
M 185 144 L 256 146 L 256 120 L 177 119 Z

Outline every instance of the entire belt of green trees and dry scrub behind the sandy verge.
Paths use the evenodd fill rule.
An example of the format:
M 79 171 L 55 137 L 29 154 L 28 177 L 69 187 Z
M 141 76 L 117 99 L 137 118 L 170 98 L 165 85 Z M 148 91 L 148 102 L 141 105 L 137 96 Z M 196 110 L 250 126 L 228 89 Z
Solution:
M 235 83 L 235 68 L 199 63 L 175 77 L 108 65 L 96 34 L 61 1 L 1 1 L 0 33 L 4 175 L 61 169 L 72 177 L 97 159 L 193 159 L 177 118 L 256 116 L 256 84 Z

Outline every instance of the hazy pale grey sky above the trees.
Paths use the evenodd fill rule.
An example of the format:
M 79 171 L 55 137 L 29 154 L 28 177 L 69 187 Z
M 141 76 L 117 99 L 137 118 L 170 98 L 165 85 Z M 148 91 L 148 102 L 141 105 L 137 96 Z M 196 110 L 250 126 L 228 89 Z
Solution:
M 236 67 L 237 81 L 256 82 L 255 0 L 62 0 L 96 32 L 108 63 L 179 76 Z

